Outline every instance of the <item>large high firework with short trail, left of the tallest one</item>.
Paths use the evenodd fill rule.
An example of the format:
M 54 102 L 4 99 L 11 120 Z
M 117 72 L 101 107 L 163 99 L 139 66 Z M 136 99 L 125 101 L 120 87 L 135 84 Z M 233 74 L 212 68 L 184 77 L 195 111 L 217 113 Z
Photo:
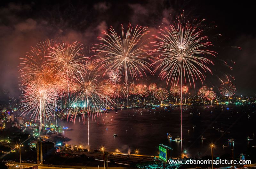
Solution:
M 146 41 L 141 39 L 148 33 L 147 27 L 136 26 L 133 29 L 129 24 L 127 32 L 124 32 L 122 25 L 122 35 L 119 36 L 113 27 L 110 27 L 108 32 L 103 31 L 105 38 L 99 37 L 103 42 L 93 48 L 94 52 L 98 52 L 101 58 L 98 60 L 102 66 L 102 70 L 107 72 L 116 71 L 121 77 L 124 77 L 126 85 L 126 96 L 128 105 L 128 79 L 146 75 L 145 70 L 150 71 L 148 54 L 148 46 Z

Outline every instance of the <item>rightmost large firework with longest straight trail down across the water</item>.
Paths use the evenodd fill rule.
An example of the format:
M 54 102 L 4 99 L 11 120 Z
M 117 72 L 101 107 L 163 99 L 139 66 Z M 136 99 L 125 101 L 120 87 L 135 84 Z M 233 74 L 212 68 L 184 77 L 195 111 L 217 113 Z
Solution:
M 181 132 L 181 152 L 182 150 L 182 86 L 188 81 L 190 87 L 195 87 L 195 80 L 202 83 L 204 73 L 211 72 L 207 66 L 213 62 L 201 55 L 213 55 L 214 52 L 207 50 L 212 44 L 207 42 L 207 37 L 202 36 L 202 31 L 188 24 L 175 24 L 164 27 L 159 32 L 159 36 L 154 36 L 157 40 L 157 49 L 153 53 L 158 53 L 158 64 L 155 71 L 160 69 L 159 76 L 170 84 L 180 82 L 180 132 Z M 204 42 L 206 41 L 206 42 Z

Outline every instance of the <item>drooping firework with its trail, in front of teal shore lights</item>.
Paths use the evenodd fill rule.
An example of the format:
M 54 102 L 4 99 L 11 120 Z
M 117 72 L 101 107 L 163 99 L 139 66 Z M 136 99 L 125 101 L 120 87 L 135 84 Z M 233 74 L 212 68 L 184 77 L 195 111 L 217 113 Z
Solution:
M 100 75 L 92 72 L 81 73 L 76 81 L 76 99 L 68 111 L 68 118 L 74 123 L 78 114 L 84 123 L 87 119 L 89 145 L 89 118 L 95 120 L 102 112 L 106 112 L 107 102 L 113 103 L 111 98 L 114 97 L 114 88 L 108 81 L 102 81 Z

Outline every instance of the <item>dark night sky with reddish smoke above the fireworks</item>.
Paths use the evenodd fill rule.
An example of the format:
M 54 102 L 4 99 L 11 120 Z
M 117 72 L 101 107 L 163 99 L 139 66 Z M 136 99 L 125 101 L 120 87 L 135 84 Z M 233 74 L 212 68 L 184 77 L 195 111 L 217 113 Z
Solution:
M 255 9 L 250 1 L 1 1 L 0 89 L 20 95 L 19 58 L 39 41 L 81 41 L 89 49 L 99 43 L 97 37 L 109 26 L 118 31 L 121 24 L 147 26 L 153 35 L 159 25 L 169 25 L 183 11 L 188 20 L 205 19 L 204 35 L 218 53 L 215 59 L 227 61 L 233 68 L 222 70 L 216 62 L 216 69 L 234 76 L 236 95 L 254 95 Z

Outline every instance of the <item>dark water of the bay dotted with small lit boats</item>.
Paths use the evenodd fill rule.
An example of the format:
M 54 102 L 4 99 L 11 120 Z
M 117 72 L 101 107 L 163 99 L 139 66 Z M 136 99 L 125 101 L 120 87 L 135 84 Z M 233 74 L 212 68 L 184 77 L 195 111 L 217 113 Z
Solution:
M 230 154 L 231 144 L 228 144 L 227 141 L 232 137 L 235 139 L 236 154 L 246 151 L 250 153 L 253 149 L 251 146 L 256 144 L 254 139 L 248 143 L 246 137 L 252 138 L 252 134 L 256 133 L 254 130 L 256 119 L 252 113 L 254 108 L 249 107 L 229 107 L 230 109 L 227 110 L 226 107 L 222 108 L 221 106 L 214 108 L 206 106 L 206 109 L 202 107 L 187 107 L 188 109 L 186 109 L 184 106 L 182 133 L 185 140 L 183 140 L 183 147 L 188 151 L 188 155 L 197 156 L 198 152 L 201 153 L 201 156 L 210 155 L 209 144 L 211 143 L 215 143 L 216 146 L 214 154 Z M 251 114 L 250 118 L 246 116 L 245 112 Z M 104 118 L 105 124 L 102 118 Z M 99 149 L 101 145 L 104 145 L 109 152 L 118 149 L 124 153 L 134 153 L 135 149 L 139 149 L 141 154 L 158 155 L 157 146 L 163 143 L 173 148 L 171 156 L 180 155 L 180 142 L 172 141 L 174 138 L 180 137 L 179 107 L 168 110 L 151 109 L 150 111 L 122 109 L 118 110 L 118 114 L 111 111 L 108 115 L 103 114 L 103 117 L 96 118 L 96 121 L 90 119 L 89 124 L 90 150 Z M 67 121 L 61 121 L 59 125 L 73 129 L 62 133 L 71 139 L 68 144 L 83 145 L 83 147 L 87 145 L 87 124 L 77 120 L 75 125 Z M 217 130 L 218 128 L 221 130 L 221 127 L 224 132 Z M 230 134 L 227 133 L 228 131 Z M 113 137 L 114 133 L 118 134 L 118 137 Z M 172 135 L 172 140 L 167 139 L 167 133 Z M 201 140 L 202 136 L 206 139 Z M 228 145 L 228 147 L 223 148 L 222 145 Z

